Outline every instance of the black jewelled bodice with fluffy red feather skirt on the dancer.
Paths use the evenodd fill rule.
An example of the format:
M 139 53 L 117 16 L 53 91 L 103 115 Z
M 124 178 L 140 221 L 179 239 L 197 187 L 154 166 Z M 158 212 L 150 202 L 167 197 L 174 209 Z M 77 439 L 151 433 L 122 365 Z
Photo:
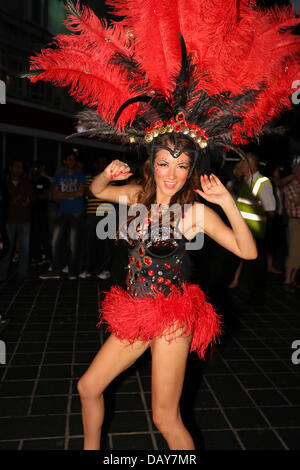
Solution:
M 221 333 L 221 317 L 198 285 L 182 280 L 188 240 L 172 232 L 160 229 L 156 237 L 149 233 L 147 239 L 129 245 L 129 287 L 112 287 L 106 294 L 99 326 L 108 323 L 108 331 L 130 343 L 192 334 L 190 351 L 204 359 L 207 347 Z

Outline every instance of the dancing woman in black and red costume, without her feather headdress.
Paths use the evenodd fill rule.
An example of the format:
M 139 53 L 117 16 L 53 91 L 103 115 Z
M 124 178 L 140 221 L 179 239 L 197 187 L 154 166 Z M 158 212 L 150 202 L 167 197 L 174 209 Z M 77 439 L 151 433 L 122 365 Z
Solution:
M 156 204 L 168 206 L 171 200 L 178 202 L 180 195 L 185 196 L 186 202 L 192 203 L 191 212 L 193 215 L 187 214 L 184 217 L 183 237 L 178 239 L 178 244 L 173 245 L 173 250 L 172 243 L 177 240 L 170 237 L 162 237 L 159 243 L 147 238 L 145 241 L 135 244 L 131 250 L 137 253 L 137 259 L 141 260 L 141 266 L 139 269 L 139 266 L 136 265 L 137 259 L 134 257 L 130 277 L 134 289 L 131 288 L 131 292 L 128 293 L 122 293 L 121 289 L 113 289 L 107 294 L 103 306 L 103 317 L 109 322 L 109 329 L 112 333 L 78 382 L 82 403 L 85 449 L 99 449 L 101 425 L 104 417 L 103 391 L 118 374 L 130 367 L 149 346 L 152 352 L 153 421 L 166 439 L 170 449 L 195 448 L 191 435 L 182 422 L 179 409 L 186 361 L 190 350 L 196 350 L 200 355 L 199 351 L 203 347 L 203 343 L 205 343 L 206 349 L 207 342 L 213 340 L 219 333 L 220 322 L 211 305 L 206 302 L 203 292 L 197 286 L 185 285 L 183 293 L 180 294 L 180 287 L 184 286 L 184 283 L 180 281 L 180 272 L 178 270 L 176 280 L 173 280 L 173 275 L 170 274 L 170 271 L 173 274 L 174 268 L 180 266 L 180 263 L 176 263 L 176 261 L 181 261 L 184 255 L 185 241 L 193 238 L 197 231 L 201 230 L 203 220 L 201 216 L 197 217 L 195 210 L 196 206 L 200 204 L 195 202 L 194 197 L 188 197 L 192 194 L 191 190 L 194 189 L 193 182 L 197 181 L 196 170 L 193 171 L 191 178 L 188 178 L 193 159 L 192 154 L 189 153 L 189 150 L 192 150 L 191 144 L 184 138 L 178 139 L 177 148 L 182 153 L 178 158 L 174 158 L 172 155 L 174 138 L 168 136 L 164 140 L 164 144 L 169 149 L 157 150 L 154 157 L 154 175 L 151 173 L 149 160 L 146 162 L 142 186 L 109 186 L 109 182 L 112 180 L 124 180 L 130 176 L 129 167 L 119 160 L 114 160 L 108 165 L 91 185 L 91 190 L 96 197 L 117 203 L 120 196 L 126 196 L 128 204 L 134 205 L 147 196 L 145 188 L 149 188 L 149 184 L 154 182 Z M 229 191 L 215 175 L 201 176 L 200 183 L 202 190 L 197 188 L 199 180 L 198 185 L 197 183 L 195 185 L 197 193 L 207 201 L 220 205 L 232 227 L 229 228 L 213 210 L 204 206 L 204 233 L 241 258 L 255 258 L 257 254 L 255 241 Z M 176 259 L 173 255 L 174 252 L 177 254 Z M 147 254 L 150 256 L 147 257 Z M 131 254 L 130 257 L 132 258 L 133 255 Z M 160 260 L 159 267 L 156 267 L 158 260 Z M 160 269 L 161 273 L 159 273 Z M 203 269 L 205 268 L 203 267 Z M 136 272 L 139 274 L 138 276 L 135 276 Z M 148 274 L 148 272 L 150 273 Z M 168 279 L 170 281 L 166 282 Z M 145 286 L 147 281 L 148 285 Z M 176 286 L 177 292 L 174 293 L 174 289 L 171 291 L 173 292 L 173 303 L 169 307 L 166 303 L 164 315 L 167 318 L 162 320 L 159 318 L 159 313 L 155 312 L 155 308 L 159 310 L 165 299 L 160 298 L 158 301 L 155 296 L 167 296 L 170 285 Z M 155 294 L 156 289 L 157 293 Z M 172 294 L 169 295 L 172 296 Z M 147 301 L 150 302 L 149 308 L 146 307 L 146 312 L 141 310 L 142 304 L 138 304 L 139 296 L 144 297 L 144 306 Z M 193 296 L 193 301 L 191 296 Z M 136 307 L 133 305 L 134 302 L 137 302 Z M 185 303 L 187 305 L 184 305 Z M 170 311 L 170 309 L 172 310 Z M 148 310 L 152 312 L 152 318 Z M 149 325 L 149 321 L 151 325 Z M 205 331 L 207 337 L 202 338 L 201 335 L 203 336 L 207 322 L 210 324 L 208 331 Z M 137 323 L 138 326 L 136 326 Z M 152 336 L 153 331 L 150 332 L 149 328 L 153 331 L 156 330 L 156 337 Z M 137 337 L 134 340 L 134 335 L 139 335 L 140 338 Z M 202 350 L 201 355 L 203 356 L 203 354 Z

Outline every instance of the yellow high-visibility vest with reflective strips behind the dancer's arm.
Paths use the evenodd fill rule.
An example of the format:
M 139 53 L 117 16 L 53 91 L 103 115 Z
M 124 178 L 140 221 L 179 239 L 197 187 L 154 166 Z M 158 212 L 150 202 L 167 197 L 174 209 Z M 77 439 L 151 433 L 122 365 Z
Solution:
M 256 238 L 264 238 L 267 228 L 266 212 L 259 199 L 259 193 L 263 184 L 270 184 L 272 187 L 269 178 L 262 175 L 258 175 L 251 185 L 243 181 L 236 202 L 242 217 Z

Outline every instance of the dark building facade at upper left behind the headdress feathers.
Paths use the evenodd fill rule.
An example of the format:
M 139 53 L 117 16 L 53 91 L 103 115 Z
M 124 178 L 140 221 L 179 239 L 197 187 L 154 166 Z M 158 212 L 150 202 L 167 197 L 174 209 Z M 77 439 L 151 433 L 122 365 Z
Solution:
M 89 155 L 123 151 L 88 139 L 67 142 L 80 105 L 66 89 L 19 78 L 29 68 L 28 58 L 54 35 L 65 32 L 65 16 L 63 0 L 0 0 L 0 80 L 6 94 L 5 104 L 0 104 L 2 170 L 20 155 L 28 163 L 45 161 L 54 174 L 62 156 L 73 147 Z

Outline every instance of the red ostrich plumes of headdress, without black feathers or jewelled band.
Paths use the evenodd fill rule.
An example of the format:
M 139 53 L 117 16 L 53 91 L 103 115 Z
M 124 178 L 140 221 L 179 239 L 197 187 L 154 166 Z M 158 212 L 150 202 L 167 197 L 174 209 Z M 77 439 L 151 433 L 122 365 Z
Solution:
M 299 19 L 292 7 L 261 10 L 249 0 L 108 0 L 121 22 L 108 27 L 88 8 L 74 8 L 66 25 L 70 35 L 55 39 L 56 49 L 32 58 L 31 77 L 71 86 L 70 93 L 113 124 L 120 105 L 143 92 L 172 101 L 181 68 L 184 38 L 196 67 L 195 90 L 210 95 L 256 94 L 233 126 L 235 144 L 245 144 L 292 106 L 292 83 L 299 76 L 299 36 L 289 28 Z M 131 36 L 132 35 L 132 36 Z M 121 62 L 113 62 L 118 56 Z M 127 64 L 127 69 L 126 65 Z M 134 73 L 130 73 L 134 71 Z M 195 93 L 191 94 L 195 100 Z M 193 103 L 194 104 L 194 103 Z M 118 128 L 130 125 L 147 109 L 126 107 Z M 210 115 L 212 113 L 209 113 Z M 219 115 L 220 116 L 220 115 Z

